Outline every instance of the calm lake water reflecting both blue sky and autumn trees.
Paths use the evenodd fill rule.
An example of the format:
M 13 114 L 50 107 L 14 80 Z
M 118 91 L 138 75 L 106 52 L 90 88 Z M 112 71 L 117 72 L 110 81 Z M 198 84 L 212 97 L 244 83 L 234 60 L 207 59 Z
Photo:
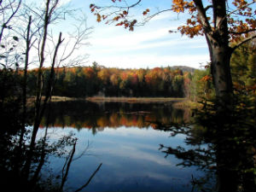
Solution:
M 75 154 L 64 189 L 81 187 L 102 166 L 82 191 L 197 191 L 193 178 L 204 177 L 197 166 L 177 166 L 182 160 L 160 150 L 160 144 L 193 148 L 183 134 L 170 136 L 157 125 L 181 124 L 189 112 L 171 104 L 56 102 L 42 122 L 52 143 L 64 135 L 77 137 Z M 48 118 L 47 118 L 48 117 Z M 71 147 L 67 149 L 72 149 Z M 61 175 L 65 158 L 49 157 L 44 177 Z

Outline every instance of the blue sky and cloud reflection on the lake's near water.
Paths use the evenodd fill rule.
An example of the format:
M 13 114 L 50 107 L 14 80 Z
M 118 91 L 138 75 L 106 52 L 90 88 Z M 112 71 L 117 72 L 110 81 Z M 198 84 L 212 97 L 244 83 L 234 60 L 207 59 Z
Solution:
M 44 130 L 41 131 L 42 134 Z M 100 171 L 84 191 L 191 191 L 191 174 L 200 174 L 195 172 L 195 167 L 176 166 L 179 160 L 172 155 L 165 158 L 159 150 L 160 143 L 173 148 L 185 147 L 183 135 L 170 137 L 168 132 L 136 127 L 105 128 L 96 135 L 87 129 L 51 128 L 49 135 L 58 138 L 70 131 L 79 138 L 74 158 L 88 143 L 90 148 L 73 161 L 65 185 L 67 189 L 83 185 L 100 163 Z M 54 170 L 61 171 L 61 160 L 53 158 L 51 163 Z

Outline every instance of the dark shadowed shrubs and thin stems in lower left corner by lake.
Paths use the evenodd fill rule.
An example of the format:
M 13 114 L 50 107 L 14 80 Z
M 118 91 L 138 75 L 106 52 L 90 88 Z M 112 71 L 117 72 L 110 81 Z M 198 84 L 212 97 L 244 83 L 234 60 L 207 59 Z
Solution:
M 83 156 L 89 146 L 84 147 L 84 151 L 81 154 L 74 155 L 78 140 L 73 134 L 49 140 L 49 121 L 47 118 L 45 119 L 46 127 L 42 131 L 44 134 L 42 137 L 37 138 L 34 147 L 30 148 L 31 129 L 29 127 L 26 129 L 24 140 L 20 145 L 19 136 L 22 122 L 20 111 L 15 110 L 15 113 L 5 113 L 5 115 L 2 113 L 3 110 L 10 112 L 9 110 L 19 107 L 20 102 L 14 100 L 11 108 L 6 108 L 6 104 L 10 105 L 11 102 L 2 102 L 1 104 L 3 104 L 0 115 L 2 123 L 0 132 L 0 179 L 2 189 L 27 192 L 64 191 L 73 160 Z M 48 114 L 50 115 L 50 113 Z M 11 119 L 14 117 L 17 120 L 12 123 Z M 63 161 L 60 174 L 50 171 L 49 157 L 55 157 L 60 159 L 61 162 Z M 29 162 L 28 169 L 27 162 Z M 90 180 L 101 166 L 102 164 L 96 168 L 96 171 L 91 174 L 88 180 L 84 181 L 84 185 L 76 190 L 77 192 L 90 183 Z

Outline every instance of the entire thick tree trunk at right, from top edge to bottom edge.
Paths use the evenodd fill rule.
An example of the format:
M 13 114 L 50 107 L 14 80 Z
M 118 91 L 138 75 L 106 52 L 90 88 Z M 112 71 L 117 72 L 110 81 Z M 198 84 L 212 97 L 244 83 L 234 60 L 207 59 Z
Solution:
M 225 3 L 225 0 L 212 0 L 214 30 L 207 31 L 205 34 L 210 52 L 212 80 L 217 98 L 215 102 L 218 119 L 216 131 L 221 136 L 230 128 L 227 125 L 229 126 L 231 123 L 233 108 L 233 84 L 230 73 L 232 49 L 229 44 L 230 37 Z M 236 150 L 230 148 L 230 151 L 228 151 L 222 143 L 217 145 L 218 191 L 236 191 L 238 179 L 236 172 L 227 167 L 238 163 L 237 160 L 230 160 L 229 158 L 229 154 L 236 154 Z

